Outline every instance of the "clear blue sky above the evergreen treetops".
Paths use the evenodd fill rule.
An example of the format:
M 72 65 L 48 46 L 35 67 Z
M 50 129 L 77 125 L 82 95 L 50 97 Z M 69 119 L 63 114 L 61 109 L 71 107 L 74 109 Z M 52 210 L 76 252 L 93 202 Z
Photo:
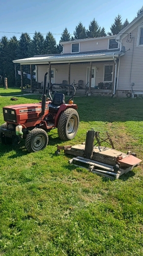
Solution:
M 45 37 L 50 31 L 59 44 L 65 27 L 73 35 L 79 22 L 88 29 L 95 18 L 99 26 L 109 32 L 118 14 L 123 22 L 126 18 L 131 22 L 142 5 L 141 0 L 1 0 L 0 39 L 4 35 L 8 39 L 13 35 L 19 39 L 22 32 L 33 38 L 35 31 Z

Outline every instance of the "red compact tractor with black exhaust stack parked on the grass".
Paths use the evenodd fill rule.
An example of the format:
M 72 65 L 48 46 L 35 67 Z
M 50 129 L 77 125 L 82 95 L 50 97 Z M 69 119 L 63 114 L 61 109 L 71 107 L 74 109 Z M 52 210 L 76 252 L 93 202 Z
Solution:
M 72 100 L 75 88 L 70 84 L 64 84 L 64 87 L 72 90 L 72 95 L 65 102 L 65 95 L 62 93 L 55 93 L 53 98 L 51 97 L 50 90 L 55 86 L 51 84 L 47 91 L 49 95 L 47 99 L 46 76 L 47 73 L 44 76 L 41 102 L 10 105 L 3 108 L 6 123 L 0 126 L 1 143 L 19 142 L 20 138 L 23 138 L 26 150 L 37 152 L 47 146 L 47 131 L 55 127 L 58 128 L 61 140 L 71 140 L 75 137 L 79 125 L 77 105 L 73 104 Z

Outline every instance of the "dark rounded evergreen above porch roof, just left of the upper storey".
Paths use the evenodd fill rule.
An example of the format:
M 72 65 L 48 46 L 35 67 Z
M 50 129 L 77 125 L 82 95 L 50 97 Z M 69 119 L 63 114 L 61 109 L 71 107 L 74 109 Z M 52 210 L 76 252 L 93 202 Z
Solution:
M 44 40 L 44 54 L 56 53 L 56 41 L 51 32 L 48 32 Z

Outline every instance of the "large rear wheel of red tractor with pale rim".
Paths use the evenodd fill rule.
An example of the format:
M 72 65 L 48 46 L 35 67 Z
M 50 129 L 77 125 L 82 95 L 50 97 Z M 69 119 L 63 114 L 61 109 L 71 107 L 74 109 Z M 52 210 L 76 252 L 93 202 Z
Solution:
M 75 109 L 66 109 L 58 122 L 58 134 L 61 140 L 71 140 L 75 137 L 79 125 L 79 116 Z

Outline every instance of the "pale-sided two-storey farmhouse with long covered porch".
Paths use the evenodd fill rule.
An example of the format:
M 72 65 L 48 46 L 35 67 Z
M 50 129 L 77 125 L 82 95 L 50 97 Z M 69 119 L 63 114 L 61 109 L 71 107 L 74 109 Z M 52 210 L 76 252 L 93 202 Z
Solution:
M 36 82 L 40 84 L 46 72 L 49 83 L 66 80 L 78 84 L 81 80 L 79 94 L 119 97 L 143 94 L 143 13 L 118 35 L 65 41 L 61 45 L 61 54 L 13 62 L 20 63 L 21 71 L 22 65 L 35 65 Z

